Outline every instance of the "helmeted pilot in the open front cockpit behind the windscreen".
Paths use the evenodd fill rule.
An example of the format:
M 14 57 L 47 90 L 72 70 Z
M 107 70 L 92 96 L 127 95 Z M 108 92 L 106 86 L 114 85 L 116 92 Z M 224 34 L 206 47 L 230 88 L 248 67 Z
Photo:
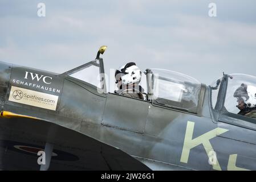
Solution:
M 135 63 L 130 62 L 117 69 L 115 78 L 119 89 L 115 93 L 144 100 L 144 89 L 139 85 L 141 71 Z

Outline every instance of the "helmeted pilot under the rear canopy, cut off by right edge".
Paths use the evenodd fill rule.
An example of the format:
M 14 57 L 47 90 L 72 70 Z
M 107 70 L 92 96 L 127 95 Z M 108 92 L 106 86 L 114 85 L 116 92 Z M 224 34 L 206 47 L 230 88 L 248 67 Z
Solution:
M 235 90 L 234 97 L 237 98 L 238 114 L 247 115 L 250 117 L 250 113 L 256 113 L 256 87 L 252 85 L 241 84 Z

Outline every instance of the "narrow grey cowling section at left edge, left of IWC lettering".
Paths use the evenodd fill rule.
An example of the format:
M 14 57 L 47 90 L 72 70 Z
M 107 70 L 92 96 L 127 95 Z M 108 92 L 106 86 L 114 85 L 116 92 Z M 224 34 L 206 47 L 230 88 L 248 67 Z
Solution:
M 0 106 L 2 109 L 11 77 L 11 64 L 0 61 Z

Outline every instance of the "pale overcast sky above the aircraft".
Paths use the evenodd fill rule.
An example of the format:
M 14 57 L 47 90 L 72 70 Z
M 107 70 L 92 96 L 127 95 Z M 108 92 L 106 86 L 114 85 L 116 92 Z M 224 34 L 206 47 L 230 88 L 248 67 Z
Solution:
M 208 15 L 211 2 L 217 17 Z M 207 85 L 222 72 L 256 76 L 255 10 L 255 0 L 0 0 L 0 61 L 63 73 L 107 45 L 107 73 L 135 61 Z

